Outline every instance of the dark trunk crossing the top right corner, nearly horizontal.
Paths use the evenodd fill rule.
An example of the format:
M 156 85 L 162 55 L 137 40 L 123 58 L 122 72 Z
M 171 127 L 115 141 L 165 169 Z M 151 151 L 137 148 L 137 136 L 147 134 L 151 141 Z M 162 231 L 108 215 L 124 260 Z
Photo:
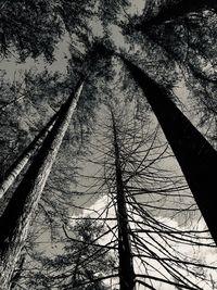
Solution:
M 161 25 L 166 21 L 176 20 L 177 17 L 184 16 L 188 13 L 199 12 L 205 9 L 217 10 L 216 0 L 180 0 L 163 8 L 157 15 L 151 17 L 150 20 L 144 20 L 137 26 L 137 28 L 143 30 L 152 25 Z

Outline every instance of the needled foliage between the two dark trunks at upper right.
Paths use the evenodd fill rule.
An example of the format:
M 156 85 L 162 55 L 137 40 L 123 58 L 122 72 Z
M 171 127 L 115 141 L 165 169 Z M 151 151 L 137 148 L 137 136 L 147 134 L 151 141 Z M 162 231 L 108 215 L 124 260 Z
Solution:
M 138 31 L 131 30 L 131 38 L 137 37 L 143 41 L 142 49 L 146 51 L 149 46 L 153 48 L 156 60 L 165 60 L 165 56 L 168 59 L 168 63 L 171 64 L 169 70 L 177 73 L 175 84 L 179 86 L 181 81 L 191 97 L 188 110 L 192 110 L 191 115 L 196 116 L 199 126 L 214 147 L 216 147 L 216 99 L 213 94 L 216 88 L 214 61 L 216 52 L 213 50 L 216 39 L 215 27 L 215 13 L 205 11 L 201 14 L 184 15 L 149 29 L 144 26 L 143 37 Z M 165 73 L 161 71 L 161 74 Z M 169 80 L 169 73 L 166 73 L 165 77 L 166 81 Z M 159 83 L 163 81 L 159 79 Z

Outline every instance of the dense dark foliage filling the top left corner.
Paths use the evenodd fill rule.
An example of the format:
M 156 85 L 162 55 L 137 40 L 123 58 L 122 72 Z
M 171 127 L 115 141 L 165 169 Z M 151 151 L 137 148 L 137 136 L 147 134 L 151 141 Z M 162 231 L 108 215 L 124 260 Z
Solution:
M 1 54 L 14 55 L 21 61 L 43 55 L 47 61 L 54 60 L 54 50 L 66 31 L 80 34 L 88 29 L 87 22 L 92 16 L 93 3 L 88 1 L 24 1 L 1 3 Z M 91 9 L 92 8 L 92 9 Z M 12 51 L 11 51 L 12 50 Z

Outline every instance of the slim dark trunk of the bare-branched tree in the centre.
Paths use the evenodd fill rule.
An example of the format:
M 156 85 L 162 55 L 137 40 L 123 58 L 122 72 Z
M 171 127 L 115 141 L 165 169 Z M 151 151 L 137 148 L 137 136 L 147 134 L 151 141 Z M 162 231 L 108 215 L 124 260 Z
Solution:
M 116 190 L 117 190 L 117 224 L 118 224 L 118 254 L 119 254 L 119 283 L 120 290 L 135 289 L 135 272 L 131 255 L 131 245 L 129 237 L 129 222 L 127 215 L 124 182 L 119 160 L 119 147 L 117 140 L 116 121 L 111 110 L 114 150 L 115 150 L 115 169 L 116 169 Z

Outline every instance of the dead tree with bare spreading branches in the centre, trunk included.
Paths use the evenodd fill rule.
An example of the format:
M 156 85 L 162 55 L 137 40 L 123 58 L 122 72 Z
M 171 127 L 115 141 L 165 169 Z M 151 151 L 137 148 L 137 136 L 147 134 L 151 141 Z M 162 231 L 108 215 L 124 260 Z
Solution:
M 129 103 L 126 108 L 129 108 Z M 210 247 L 209 242 L 205 241 L 205 231 L 180 230 L 157 217 L 157 211 L 167 211 L 168 216 L 170 211 L 181 211 L 178 198 L 181 198 L 182 193 L 187 194 L 186 187 L 179 181 L 180 177 L 171 177 L 168 171 L 161 168 L 163 160 L 169 157 L 169 153 L 167 146 L 159 146 L 158 131 L 145 134 L 144 124 L 127 117 L 126 108 L 122 111 L 120 101 L 114 101 L 113 116 L 106 119 L 105 113 L 110 110 L 103 111 L 104 124 L 100 124 L 100 128 L 104 138 L 101 137 L 91 144 L 97 152 L 101 144 L 99 154 L 93 154 L 93 162 L 94 164 L 103 162 L 102 168 L 101 171 L 98 168 L 97 175 L 93 173 L 93 185 L 87 189 L 88 182 L 84 181 L 84 187 L 88 194 L 100 192 L 107 194 L 108 198 L 104 199 L 105 207 L 102 207 L 102 204 L 99 206 L 99 209 L 102 207 L 101 210 L 93 207 L 92 215 L 90 217 L 85 215 L 85 218 L 105 223 L 107 238 L 103 237 L 98 241 L 103 248 L 111 249 L 112 253 L 118 254 L 116 257 L 118 266 L 112 275 L 114 280 L 118 275 L 120 288 L 133 289 L 137 282 L 144 285 L 148 289 L 157 289 L 159 283 L 173 285 L 180 289 L 202 289 L 203 286 L 197 285 L 199 272 L 201 267 L 205 269 L 206 265 L 195 260 L 191 261 L 190 256 L 184 259 L 179 253 L 178 244 L 183 243 L 187 248 L 191 248 L 200 239 L 199 243 L 203 244 L 202 247 Z M 132 114 L 132 108 L 129 114 Z M 98 129 L 98 135 L 99 131 Z M 87 176 L 87 180 L 88 178 L 90 177 Z M 179 191 L 181 191 L 180 197 Z M 187 197 L 189 194 L 186 199 Z M 167 198 L 175 202 L 177 199 L 177 209 L 169 210 L 170 206 L 166 205 Z M 123 209 L 125 209 L 124 213 Z M 188 212 L 189 206 L 184 207 L 184 211 Z M 120 219 L 123 216 L 125 226 Z M 122 244 L 119 244 L 120 241 Z M 122 247 L 126 251 L 125 263 L 129 263 L 128 275 L 122 269 Z M 136 266 L 138 264 L 140 267 Z M 152 270 L 154 275 L 151 274 Z M 127 286 L 127 281 L 132 281 L 130 273 L 132 275 L 135 273 L 133 282 Z M 193 274 L 195 277 L 190 277 Z

